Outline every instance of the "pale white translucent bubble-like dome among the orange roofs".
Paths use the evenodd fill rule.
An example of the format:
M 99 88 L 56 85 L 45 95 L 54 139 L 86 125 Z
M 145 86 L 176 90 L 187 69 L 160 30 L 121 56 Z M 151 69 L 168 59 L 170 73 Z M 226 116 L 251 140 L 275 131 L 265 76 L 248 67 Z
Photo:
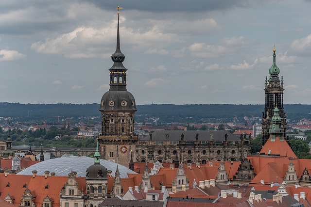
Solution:
M 114 177 L 115 172 L 117 170 L 117 165 L 120 171 L 120 177 L 126 178 L 129 174 L 136 174 L 134 171 L 124 167 L 123 165 L 117 164 L 115 162 L 107 161 L 104 159 L 100 159 L 101 165 L 107 170 L 111 170 L 111 175 Z M 77 172 L 77 176 L 85 177 L 86 176 L 86 168 L 94 164 L 94 158 L 89 157 L 64 157 L 64 158 L 55 158 L 44 160 L 43 162 L 36 163 L 21 172 L 17 173 L 17 175 L 33 175 L 33 171 L 37 171 L 37 175 L 44 175 L 45 171 L 50 171 L 51 173 L 55 173 L 55 176 L 68 176 L 68 174 L 72 171 Z

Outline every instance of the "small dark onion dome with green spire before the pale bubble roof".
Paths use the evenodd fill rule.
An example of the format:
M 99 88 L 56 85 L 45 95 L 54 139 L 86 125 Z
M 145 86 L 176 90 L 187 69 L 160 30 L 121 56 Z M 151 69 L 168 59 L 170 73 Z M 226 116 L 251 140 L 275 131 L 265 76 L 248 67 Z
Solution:
M 86 180 L 107 180 L 107 170 L 100 163 L 100 154 L 98 151 L 98 142 L 96 146 L 96 152 L 94 154 L 94 164 L 86 169 Z

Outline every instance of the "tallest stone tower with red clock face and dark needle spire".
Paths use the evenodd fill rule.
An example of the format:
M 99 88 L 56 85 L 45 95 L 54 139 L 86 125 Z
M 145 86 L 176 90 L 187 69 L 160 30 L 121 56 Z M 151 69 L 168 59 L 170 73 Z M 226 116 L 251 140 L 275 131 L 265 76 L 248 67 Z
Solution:
M 102 97 L 99 109 L 102 112 L 100 153 L 102 159 L 129 167 L 131 151 L 136 151 L 138 142 L 138 136 L 134 133 L 134 113 L 137 109 L 134 96 L 126 90 L 127 69 L 122 64 L 125 56 L 120 50 L 119 12 L 117 48 L 111 59 L 113 66 L 109 69 L 110 89 Z

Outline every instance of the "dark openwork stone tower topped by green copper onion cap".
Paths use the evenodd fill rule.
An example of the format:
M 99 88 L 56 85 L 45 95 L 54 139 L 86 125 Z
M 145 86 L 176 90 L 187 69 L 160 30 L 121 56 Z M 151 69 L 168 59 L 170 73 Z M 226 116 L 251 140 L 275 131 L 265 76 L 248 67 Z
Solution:
M 274 109 L 277 107 L 281 118 L 281 128 L 283 136 L 286 137 L 286 116 L 283 108 L 283 76 L 279 80 L 278 74 L 280 70 L 276 66 L 276 50 L 273 50 L 273 64 L 269 69 L 269 80 L 266 77 L 265 83 L 265 108 L 262 112 L 262 145 L 269 139 L 269 129 L 271 128 L 271 119 Z M 288 140 L 287 140 L 288 141 Z

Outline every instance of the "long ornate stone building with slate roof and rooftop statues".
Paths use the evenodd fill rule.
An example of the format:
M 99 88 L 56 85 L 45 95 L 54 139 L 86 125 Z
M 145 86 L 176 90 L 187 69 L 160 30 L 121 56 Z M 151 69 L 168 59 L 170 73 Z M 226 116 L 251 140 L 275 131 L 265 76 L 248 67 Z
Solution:
M 250 140 L 227 131 L 155 131 L 137 143 L 137 162 L 207 163 L 239 161 L 250 155 Z

